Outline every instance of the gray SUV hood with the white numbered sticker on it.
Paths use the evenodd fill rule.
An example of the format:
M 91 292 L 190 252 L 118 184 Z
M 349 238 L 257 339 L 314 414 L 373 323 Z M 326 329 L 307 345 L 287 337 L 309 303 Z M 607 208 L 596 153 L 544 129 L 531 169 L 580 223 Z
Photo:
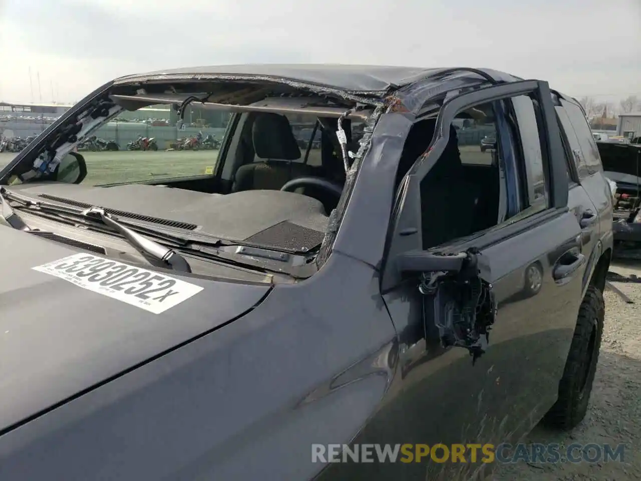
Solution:
M 124 267 L 149 271 L 149 280 L 156 276 L 156 291 L 163 287 L 158 282 L 182 291 L 170 292 L 173 300 L 158 307 L 167 300 L 128 299 L 127 289 L 110 293 L 87 277 L 61 278 L 51 267 L 71 255 L 93 258 L 83 262 L 94 266 L 111 259 L 4 226 L 0 249 L 0 431 L 242 316 L 271 289 L 269 283 Z

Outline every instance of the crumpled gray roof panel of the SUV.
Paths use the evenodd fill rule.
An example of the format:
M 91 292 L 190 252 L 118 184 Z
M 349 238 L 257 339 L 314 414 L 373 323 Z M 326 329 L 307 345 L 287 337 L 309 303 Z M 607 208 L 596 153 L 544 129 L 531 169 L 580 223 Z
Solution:
M 390 90 L 410 85 L 424 78 L 433 78 L 456 68 L 401 67 L 393 65 L 342 65 L 323 63 L 299 64 L 244 64 L 214 65 L 209 67 L 185 67 L 165 71 L 154 71 L 118 78 L 115 85 L 131 83 L 160 83 L 167 81 L 194 81 L 206 79 L 280 81 L 303 83 L 326 89 L 358 92 L 368 96 L 383 97 Z M 490 76 L 496 81 L 514 81 L 518 78 L 503 72 L 478 69 L 484 75 L 468 75 L 475 78 Z M 487 77 L 486 77 L 487 78 Z

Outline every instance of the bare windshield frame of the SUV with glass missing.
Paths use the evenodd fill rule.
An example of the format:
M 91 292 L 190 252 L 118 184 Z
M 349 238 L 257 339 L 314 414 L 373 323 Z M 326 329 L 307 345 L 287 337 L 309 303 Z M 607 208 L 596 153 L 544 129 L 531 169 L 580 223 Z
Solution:
M 163 84 L 171 85 L 171 79 L 165 79 Z M 283 84 L 287 84 L 287 81 L 283 80 Z M 193 81 L 192 81 L 193 85 Z M 289 84 L 291 87 L 291 85 Z M 115 89 L 119 90 L 116 91 Z M 31 144 L 27 146 L 21 153 L 19 153 L 11 162 L 9 162 L 3 169 L 0 171 L 0 185 L 8 185 L 8 180 L 12 178 L 13 175 L 21 173 L 21 171 L 30 171 L 35 170 L 37 167 L 37 162 L 41 156 L 49 156 L 47 164 L 49 164 L 54 158 L 59 158 L 60 155 L 67 154 L 76 148 L 78 143 L 90 137 L 94 131 L 110 121 L 115 115 L 119 114 L 123 110 L 138 110 L 143 106 L 149 106 L 153 104 L 161 103 L 157 97 L 153 98 L 153 101 L 150 102 L 149 96 L 146 96 L 146 91 L 140 89 L 140 84 L 138 85 L 129 85 L 127 86 L 124 83 L 115 83 L 109 82 L 99 87 L 99 89 L 94 90 L 91 94 L 85 97 L 83 100 L 79 101 L 74 105 L 70 110 L 65 112 L 61 117 L 59 117 L 49 128 L 40 133 Z M 338 207 L 331 212 L 329 217 L 330 223 L 334 223 L 331 219 L 341 219 L 342 213 L 347 207 L 349 198 L 351 197 L 354 181 L 356 178 L 356 171 L 360 165 L 360 160 L 367 153 L 369 149 L 370 140 L 372 137 L 373 126 L 378 121 L 378 117 L 383 111 L 383 106 L 385 103 L 381 99 L 372 99 L 370 97 L 363 97 L 359 95 L 354 95 L 353 92 L 341 92 L 336 90 L 335 92 L 328 92 L 327 89 L 320 89 L 318 86 L 314 85 L 304 85 L 298 84 L 296 90 L 302 89 L 304 87 L 308 88 L 307 95 L 303 95 L 303 101 L 298 98 L 279 98 L 272 97 L 269 101 L 273 101 L 278 105 L 267 105 L 265 104 L 266 99 L 262 101 L 256 101 L 253 105 L 230 105 L 230 104 L 221 104 L 217 102 L 208 102 L 206 99 L 199 101 L 204 106 L 208 108 L 213 108 L 214 110 L 231 110 L 236 112 L 233 114 L 233 117 L 229 120 L 228 126 L 225 131 L 224 138 L 222 139 L 221 151 L 219 152 L 220 160 L 222 162 L 217 162 L 215 169 L 211 175 L 205 175 L 202 177 L 212 177 L 220 176 L 225 160 L 229 153 L 229 147 L 233 133 L 237 129 L 238 119 L 241 115 L 240 112 L 274 112 L 274 113 L 290 113 L 290 114 L 317 114 L 324 115 L 327 117 L 336 117 L 338 119 L 345 118 L 356 118 L 363 121 L 363 124 L 367 124 L 367 128 L 364 129 L 365 135 L 363 135 L 360 140 L 360 148 L 356 157 L 354 158 L 351 165 L 351 173 L 347 176 L 345 181 L 344 191 L 338 203 Z M 124 91 L 124 93 L 122 93 Z M 174 89 L 175 91 L 175 89 Z M 114 100 L 117 95 L 123 97 L 125 94 L 129 94 L 128 99 L 121 98 L 119 102 L 116 103 Z M 132 98 L 134 97 L 134 98 Z M 287 96 L 285 96 L 287 97 Z M 172 98 L 166 98 L 164 101 L 177 105 L 177 98 L 174 96 Z M 199 99 L 192 99 L 198 101 Z M 97 110 L 100 108 L 100 103 L 108 103 L 108 105 L 113 106 L 113 110 L 109 111 L 108 115 L 101 117 L 97 121 L 94 115 Z M 133 102 L 133 103 L 132 103 Z M 360 103 L 359 103 L 360 102 Z M 324 105 L 319 105 L 323 104 Z M 94 121 L 89 120 L 89 117 L 94 117 Z M 78 137 L 64 137 L 65 132 L 68 132 L 73 126 L 78 126 L 82 124 L 82 128 L 79 129 Z M 78 130 L 76 130 L 78 132 Z M 201 177 L 201 176 L 197 176 Z M 22 178 L 21 178 L 22 180 Z M 42 181 L 42 178 L 33 178 L 33 181 Z M 27 178 L 22 180 L 22 183 L 29 183 L 32 180 Z M 128 181 L 124 182 L 125 184 L 129 183 L 162 183 L 163 180 L 147 180 L 147 181 Z M 113 184 L 106 184 L 113 185 Z M 105 185 L 105 186 L 106 186 Z M 97 186 L 96 186 L 97 187 Z M 339 212 L 337 212 L 339 211 Z M 332 224 L 333 225 L 333 224 Z M 332 227 L 335 228 L 335 227 Z M 312 262 L 313 271 L 317 271 L 320 265 L 324 263 L 326 257 L 331 251 L 331 245 L 335 241 L 335 232 L 326 232 L 326 235 L 319 246 L 318 253 L 315 255 L 315 260 Z M 321 252 L 324 252 L 325 255 L 320 255 Z M 310 273 L 311 275 L 311 273 Z

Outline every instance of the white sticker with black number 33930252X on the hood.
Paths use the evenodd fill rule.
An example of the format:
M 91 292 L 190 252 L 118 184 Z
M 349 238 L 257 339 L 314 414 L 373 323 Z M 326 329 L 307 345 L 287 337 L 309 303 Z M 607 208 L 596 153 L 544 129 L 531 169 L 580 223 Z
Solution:
M 165 312 L 203 290 L 199 285 L 165 274 L 89 254 L 70 255 L 32 269 L 154 314 Z

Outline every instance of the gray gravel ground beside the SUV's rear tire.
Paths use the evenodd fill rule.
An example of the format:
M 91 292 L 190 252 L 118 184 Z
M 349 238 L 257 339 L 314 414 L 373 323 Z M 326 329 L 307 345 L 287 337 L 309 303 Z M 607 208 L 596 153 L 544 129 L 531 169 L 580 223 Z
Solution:
M 641 480 L 641 263 L 613 262 L 608 280 L 635 303 L 604 294 L 606 319 L 590 407 L 571 432 L 537 426 L 526 443 L 626 444 L 624 462 L 500 465 L 492 481 Z M 638 277 L 637 277 L 638 276 Z

